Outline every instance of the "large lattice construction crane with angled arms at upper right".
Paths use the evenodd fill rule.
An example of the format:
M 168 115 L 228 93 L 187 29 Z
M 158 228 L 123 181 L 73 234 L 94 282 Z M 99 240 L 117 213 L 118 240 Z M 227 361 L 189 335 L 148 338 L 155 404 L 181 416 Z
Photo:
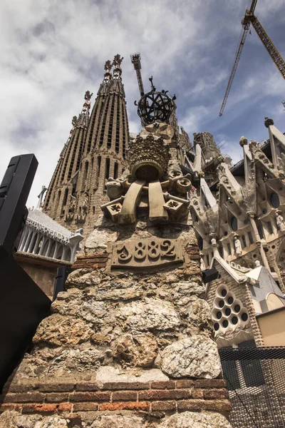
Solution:
M 237 71 L 237 64 L 239 63 L 239 58 L 242 55 L 242 49 L 244 47 L 244 41 L 247 38 L 247 33 L 249 32 L 250 24 L 254 27 L 254 30 L 257 31 L 257 35 L 259 36 L 259 39 L 262 41 L 264 46 L 266 47 L 267 52 L 273 59 L 275 65 L 279 69 L 281 75 L 283 78 L 285 78 L 285 62 L 284 59 L 279 54 L 279 51 L 277 51 L 276 47 L 274 46 L 273 42 L 269 39 L 268 34 L 264 30 L 263 26 L 261 26 L 259 20 L 257 19 L 257 16 L 254 15 L 254 9 L 257 6 L 257 0 L 252 0 L 252 5 L 250 6 L 250 9 L 247 9 L 245 11 L 244 19 L 242 19 L 242 32 L 239 37 L 239 44 L 237 46 L 236 55 L 234 57 L 234 66 L 232 68 L 232 73 L 229 76 L 229 83 L 227 84 L 226 93 L 224 94 L 224 100 L 222 102 L 221 110 L 219 111 L 219 116 L 222 116 L 222 113 L 224 113 L 224 107 L 227 103 L 227 98 L 229 96 L 229 91 L 231 90 L 232 81 L 234 80 L 234 74 Z

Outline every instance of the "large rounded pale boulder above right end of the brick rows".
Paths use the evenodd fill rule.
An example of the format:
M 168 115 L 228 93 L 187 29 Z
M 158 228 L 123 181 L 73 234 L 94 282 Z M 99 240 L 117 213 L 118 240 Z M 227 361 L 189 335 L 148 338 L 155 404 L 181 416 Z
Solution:
M 196 335 L 167 346 L 158 365 L 171 377 L 211 379 L 221 372 L 217 345 L 208 337 Z

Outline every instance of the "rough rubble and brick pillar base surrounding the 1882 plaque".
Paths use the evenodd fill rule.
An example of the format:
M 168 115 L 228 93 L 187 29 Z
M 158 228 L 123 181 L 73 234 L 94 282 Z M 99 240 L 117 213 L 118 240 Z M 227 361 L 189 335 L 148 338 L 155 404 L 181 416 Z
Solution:
M 150 238 L 183 261 L 111 269 L 114 244 Z M 0 427 L 229 427 L 192 225 L 99 219 L 73 267 L 6 384 Z

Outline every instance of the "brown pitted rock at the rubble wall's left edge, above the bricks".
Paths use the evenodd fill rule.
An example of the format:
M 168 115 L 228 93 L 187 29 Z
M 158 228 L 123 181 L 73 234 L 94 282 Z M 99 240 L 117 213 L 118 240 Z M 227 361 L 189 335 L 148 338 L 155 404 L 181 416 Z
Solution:
M 38 326 L 33 342 L 57 346 L 77 345 L 86 342 L 91 335 L 93 335 L 93 331 L 83 320 L 53 314 L 45 318 Z

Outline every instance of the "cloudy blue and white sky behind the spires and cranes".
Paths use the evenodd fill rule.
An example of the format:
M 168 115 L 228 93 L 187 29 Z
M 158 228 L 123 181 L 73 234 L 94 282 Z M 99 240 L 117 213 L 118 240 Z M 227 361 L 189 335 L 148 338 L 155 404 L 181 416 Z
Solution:
M 249 0 L 2 0 L 0 2 L 0 179 L 12 156 L 34 153 L 38 170 L 27 206 L 48 186 L 84 93 L 95 101 L 103 66 L 124 57 L 130 132 L 140 131 L 140 98 L 130 54 L 140 52 L 145 91 L 177 96 L 177 118 L 192 141 L 209 131 L 242 158 L 239 138 L 268 138 L 264 116 L 285 131 L 284 79 L 254 29 L 248 34 L 222 117 Z M 285 1 L 259 0 L 255 14 L 285 58 Z

